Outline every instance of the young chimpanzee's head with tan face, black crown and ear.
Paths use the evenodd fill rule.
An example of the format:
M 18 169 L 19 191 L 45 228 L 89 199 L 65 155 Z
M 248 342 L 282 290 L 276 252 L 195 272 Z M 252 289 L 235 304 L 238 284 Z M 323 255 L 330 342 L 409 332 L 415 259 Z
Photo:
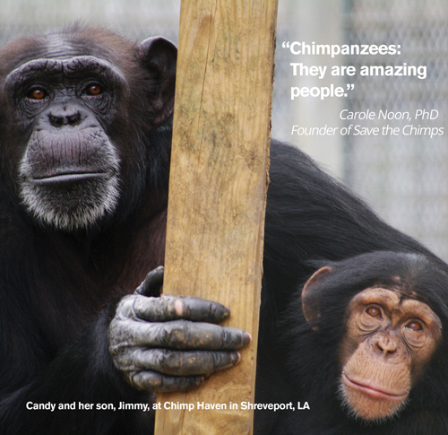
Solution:
M 332 330 L 334 318 L 326 318 L 333 311 L 345 311 L 335 362 L 340 401 L 350 415 L 382 422 L 407 405 L 442 341 L 442 321 L 421 290 L 432 291 L 439 278 L 445 280 L 444 274 L 430 268 L 426 257 L 373 252 L 324 266 L 307 281 L 302 307 L 317 334 Z M 344 298 L 347 305 L 340 302 Z

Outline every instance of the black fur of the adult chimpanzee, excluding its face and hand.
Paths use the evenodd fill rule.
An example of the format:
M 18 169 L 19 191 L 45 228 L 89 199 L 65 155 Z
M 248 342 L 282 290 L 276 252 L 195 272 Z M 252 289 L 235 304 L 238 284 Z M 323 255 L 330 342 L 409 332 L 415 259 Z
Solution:
M 13 165 L 27 132 L 11 125 L 12 115 L 0 87 L 0 432 L 148 433 L 153 419 L 150 413 L 47 413 L 25 408 L 28 401 L 117 405 L 150 398 L 129 387 L 113 366 L 108 354 L 108 323 L 116 301 L 134 291 L 164 258 L 171 129 L 170 121 L 156 130 L 151 128 L 152 109 L 147 101 L 156 78 L 144 74 L 133 57 L 132 44 L 109 32 L 74 29 L 65 36 L 50 37 L 55 38 L 64 39 L 70 48 L 81 47 L 108 58 L 132 83 L 124 115 L 108 132 L 129 161 L 124 169 L 127 181 L 116 213 L 96 228 L 70 234 L 34 222 L 18 203 L 13 184 Z M 39 57 L 48 40 L 22 39 L 0 51 L 0 86 L 14 66 Z M 376 218 L 303 153 L 273 142 L 257 402 L 311 401 L 314 397 L 314 392 L 304 396 L 306 390 L 297 393 L 297 383 L 291 378 L 297 372 L 290 370 L 291 361 L 306 361 L 312 342 L 306 341 L 302 350 L 298 341 L 282 340 L 280 321 L 289 303 L 297 301 L 300 284 L 314 271 L 311 260 L 339 260 L 376 249 L 421 252 L 439 263 L 416 241 Z M 445 300 L 444 294 L 440 297 Z M 317 357 L 320 361 L 326 355 Z M 332 371 L 329 373 L 331 378 Z M 310 382 L 315 376 L 315 385 L 322 387 L 323 373 L 317 376 L 309 369 L 305 374 Z M 445 378 L 446 373 L 440 376 Z M 434 403 L 440 396 L 428 400 Z M 331 401 L 322 398 L 323 402 L 327 399 Z M 319 409 L 327 408 L 314 403 L 313 415 L 320 418 Z M 337 405 L 330 410 L 336 419 L 339 415 L 344 418 Z M 256 413 L 257 432 L 288 433 L 289 429 L 278 431 L 282 424 L 276 421 L 278 417 L 281 413 Z M 426 422 L 424 417 L 421 424 Z M 405 422 L 400 424 L 404 427 Z M 300 431 L 297 424 L 287 428 L 291 427 L 295 433 Z

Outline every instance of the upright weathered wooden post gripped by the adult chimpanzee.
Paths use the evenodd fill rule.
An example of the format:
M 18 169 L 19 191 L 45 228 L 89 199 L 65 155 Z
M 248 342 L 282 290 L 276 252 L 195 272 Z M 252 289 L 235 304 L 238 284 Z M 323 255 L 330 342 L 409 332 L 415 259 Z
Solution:
M 252 432 L 276 14 L 276 0 L 182 2 L 164 292 L 220 301 L 253 341 L 202 387 L 159 395 L 159 435 Z

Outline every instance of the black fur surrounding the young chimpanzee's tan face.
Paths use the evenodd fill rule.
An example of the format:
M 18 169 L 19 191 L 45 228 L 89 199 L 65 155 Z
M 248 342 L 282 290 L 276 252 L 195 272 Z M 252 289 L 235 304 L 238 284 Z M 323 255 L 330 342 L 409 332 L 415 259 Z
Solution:
M 310 411 L 280 413 L 272 425 L 272 433 L 330 435 L 356 433 L 380 434 L 437 434 L 448 433 L 448 376 L 446 338 L 438 347 L 423 378 L 412 388 L 409 405 L 390 421 L 367 424 L 349 418 L 337 398 L 340 379 L 338 361 L 341 337 L 345 334 L 346 307 L 358 293 L 382 283 L 382 287 L 396 289 L 392 276 L 399 275 L 404 295 L 430 305 L 441 319 L 444 331 L 448 327 L 446 298 L 446 267 L 416 254 L 377 251 L 342 260 L 324 262 L 332 267 L 322 282 L 314 284 L 320 318 L 317 332 L 306 325 L 297 295 L 285 316 L 285 343 L 289 356 L 284 378 L 289 387 L 283 391 L 285 402 L 308 402 Z M 443 333 L 444 334 L 444 333 Z M 298 430 L 297 428 L 300 428 Z

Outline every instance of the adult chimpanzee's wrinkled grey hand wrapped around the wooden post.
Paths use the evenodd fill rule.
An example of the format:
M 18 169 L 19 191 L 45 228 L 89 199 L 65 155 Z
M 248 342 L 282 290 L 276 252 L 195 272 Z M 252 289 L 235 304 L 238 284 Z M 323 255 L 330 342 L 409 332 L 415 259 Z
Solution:
M 159 267 L 120 301 L 110 323 L 109 351 L 126 380 L 147 391 L 185 390 L 201 384 L 204 374 L 237 364 L 235 351 L 250 335 L 212 325 L 228 318 L 229 310 L 200 298 L 145 296 L 162 283 Z

